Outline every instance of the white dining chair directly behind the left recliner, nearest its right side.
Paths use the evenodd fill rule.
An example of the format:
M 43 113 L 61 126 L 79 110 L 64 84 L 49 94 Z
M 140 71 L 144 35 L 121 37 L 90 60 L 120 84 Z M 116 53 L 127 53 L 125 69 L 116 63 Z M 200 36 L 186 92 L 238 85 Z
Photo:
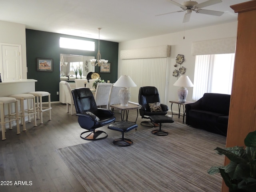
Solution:
M 95 92 L 95 102 L 97 106 L 108 108 L 109 93 L 112 83 L 98 83 Z

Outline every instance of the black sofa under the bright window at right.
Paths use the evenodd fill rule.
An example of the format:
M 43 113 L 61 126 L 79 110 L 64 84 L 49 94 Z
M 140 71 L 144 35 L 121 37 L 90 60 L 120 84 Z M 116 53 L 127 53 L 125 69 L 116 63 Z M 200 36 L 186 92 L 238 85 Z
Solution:
M 198 101 L 186 104 L 186 124 L 216 134 L 227 135 L 230 95 L 205 93 Z

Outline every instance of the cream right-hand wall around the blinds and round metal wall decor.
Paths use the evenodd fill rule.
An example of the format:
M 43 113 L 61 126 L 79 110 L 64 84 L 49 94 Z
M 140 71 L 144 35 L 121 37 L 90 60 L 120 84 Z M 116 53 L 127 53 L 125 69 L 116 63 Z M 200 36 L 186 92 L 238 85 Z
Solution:
M 185 34 L 185 39 L 183 36 Z M 127 42 L 119 43 L 119 54 L 118 54 L 118 77 L 122 69 L 122 60 L 120 59 L 120 51 L 126 49 L 136 49 L 136 48 L 145 48 L 152 46 L 160 46 L 160 45 L 170 45 L 171 46 L 171 56 L 168 58 L 169 60 L 169 82 L 168 82 L 168 94 L 167 94 L 167 102 L 170 107 L 170 100 L 178 100 L 177 90 L 179 87 L 173 86 L 174 82 L 177 80 L 174 76 L 172 76 L 172 72 L 180 67 L 184 66 L 186 68 L 185 75 L 188 75 L 190 80 L 194 82 L 194 67 L 195 67 L 195 56 L 191 54 L 192 42 L 202 41 L 202 40 L 211 40 L 211 39 L 220 39 L 220 38 L 228 38 L 228 37 L 236 37 L 237 34 L 237 22 L 231 22 L 226 24 L 220 24 L 216 26 L 209 26 L 204 28 L 197 28 L 193 30 L 187 30 L 185 33 L 176 32 L 172 34 L 165 34 L 161 36 L 154 36 L 150 38 L 132 40 Z M 177 54 L 183 54 L 185 61 L 180 66 L 174 67 L 175 58 Z M 160 77 L 156 77 L 160 78 Z M 136 83 L 136 82 L 135 82 Z M 192 91 L 193 88 L 188 88 L 188 97 L 187 100 L 192 100 Z M 161 101 L 162 102 L 162 101 Z M 165 101 L 166 102 L 166 101 Z

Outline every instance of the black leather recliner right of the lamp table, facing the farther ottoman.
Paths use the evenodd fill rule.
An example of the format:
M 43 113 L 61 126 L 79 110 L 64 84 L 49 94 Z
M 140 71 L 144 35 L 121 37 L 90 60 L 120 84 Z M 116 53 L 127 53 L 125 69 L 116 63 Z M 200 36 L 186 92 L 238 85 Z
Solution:
M 140 88 L 139 104 L 141 106 L 140 115 L 142 118 L 149 119 L 149 116 L 152 116 L 152 115 L 166 115 L 167 114 L 168 106 L 165 104 L 161 104 L 161 103 L 160 103 L 160 106 L 161 106 L 162 111 L 152 112 L 152 110 L 150 110 L 149 104 L 156 103 L 156 102 L 160 103 L 160 96 L 159 96 L 159 93 L 158 93 L 158 90 L 156 87 L 145 86 L 145 87 Z M 141 122 L 141 124 L 144 126 L 154 127 L 154 124 L 149 121 L 143 121 L 143 122 Z

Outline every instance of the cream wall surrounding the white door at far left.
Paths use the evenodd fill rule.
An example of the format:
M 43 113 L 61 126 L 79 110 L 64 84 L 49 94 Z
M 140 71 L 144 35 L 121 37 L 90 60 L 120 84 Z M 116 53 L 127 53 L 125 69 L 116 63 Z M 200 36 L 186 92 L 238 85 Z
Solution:
M 24 24 L 0 21 L 0 42 L 19 44 L 22 49 L 22 76 L 27 78 L 26 27 Z M 0 53 L 2 54 L 2 53 Z M 2 61 L 0 61 L 2 68 Z

